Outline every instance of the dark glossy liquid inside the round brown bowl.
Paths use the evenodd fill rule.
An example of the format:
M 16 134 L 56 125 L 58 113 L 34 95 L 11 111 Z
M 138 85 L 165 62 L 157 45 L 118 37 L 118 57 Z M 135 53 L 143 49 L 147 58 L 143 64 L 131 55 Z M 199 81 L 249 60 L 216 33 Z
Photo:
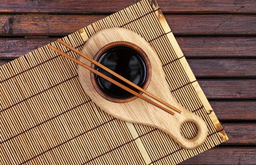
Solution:
M 147 67 L 145 65 L 145 61 L 143 61 L 140 54 L 138 54 L 136 50 L 124 46 L 113 47 L 110 50 L 104 52 L 102 56 L 100 56 L 100 58 L 98 59 L 98 63 L 105 65 L 105 67 L 108 67 L 112 71 L 120 74 L 121 76 L 127 78 L 132 83 L 140 87 L 143 87 L 143 85 L 145 84 L 145 80 L 147 78 Z M 130 89 L 133 89 L 134 91 L 137 91 L 136 89 L 134 89 L 134 87 L 127 85 L 127 83 L 124 83 L 122 80 L 119 80 L 115 76 L 112 76 L 108 72 L 105 72 L 105 70 L 100 69 L 99 67 L 96 67 L 96 69 L 99 72 L 118 81 L 119 83 L 122 83 L 122 85 L 125 85 Z M 96 76 L 96 83 L 98 83 L 98 86 L 103 92 L 105 92 L 105 94 L 113 98 L 123 99 L 133 96 L 129 92 L 110 83 L 104 78 L 100 78 L 99 76 Z

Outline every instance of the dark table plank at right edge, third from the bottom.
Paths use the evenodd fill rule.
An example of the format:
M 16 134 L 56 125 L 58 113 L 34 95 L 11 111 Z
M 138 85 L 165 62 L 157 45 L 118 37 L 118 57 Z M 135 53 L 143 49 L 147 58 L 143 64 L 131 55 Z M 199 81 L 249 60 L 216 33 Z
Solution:
M 210 104 L 219 120 L 256 120 L 255 101 L 210 100 Z

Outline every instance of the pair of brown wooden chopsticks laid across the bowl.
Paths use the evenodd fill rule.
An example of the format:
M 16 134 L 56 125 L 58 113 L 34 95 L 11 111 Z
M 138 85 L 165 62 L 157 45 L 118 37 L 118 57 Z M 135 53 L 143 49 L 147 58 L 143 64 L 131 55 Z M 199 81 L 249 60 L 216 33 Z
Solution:
M 89 56 L 83 54 L 82 52 L 76 50 L 76 48 L 72 47 L 71 45 L 68 45 L 67 43 L 65 43 L 61 39 L 58 39 L 57 41 L 58 41 L 58 43 L 61 43 L 65 47 L 69 48 L 70 50 L 72 50 L 72 51 L 76 52 L 77 54 L 83 56 L 83 58 L 85 58 L 88 61 L 94 63 L 95 65 L 97 65 L 101 69 L 104 69 L 105 71 L 109 72 L 109 74 L 112 74 L 112 75 L 116 76 L 117 78 L 119 78 L 120 80 L 124 81 L 125 83 L 131 85 L 131 87 L 134 87 L 135 89 L 138 89 L 139 91 L 142 91 L 144 94 L 147 94 L 147 96 L 150 96 L 151 98 L 157 100 L 158 102 L 161 102 L 162 104 L 164 104 L 165 106 L 169 107 L 170 109 L 173 109 L 174 111 L 176 111 L 178 113 L 181 113 L 181 111 L 179 109 L 171 106 L 171 104 L 168 104 L 164 100 L 161 100 L 160 98 L 154 96 L 153 94 L 149 93 L 145 89 L 142 89 L 141 87 L 139 87 L 138 85 L 132 83 L 131 81 L 127 80 L 126 78 L 120 76 L 119 74 L 116 74 L 116 72 L 114 72 L 111 69 L 105 67 L 104 65 L 98 63 L 97 61 L 94 61 L 94 59 L 92 59 Z M 125 91 L 128 91 L 129 93 L 137 96 L 138 98 L 141 98 L 142 100 L 145 100 L 146 102 L 149 102 L 150 104 L 153 104 L 154 106 L 162 109 L 163 111 L 166 111 L 167 113 L 170 113 L 171 115 L 174 115 L 174 113 L 172 111 L 170 111 L 169 109 L 166 109 L 166 108 L 162 107 L 160 104 L 158 104 L 156 102 L 153 102 L 152 100 L 149 100 L 149 98 L 146 98 L 145 96 L 142 96 L 141 94 L 138 94 L 136 91 L 134 91 L 132 89 L 129 89 L 128 87 L 126 87 L 125 85 L 122 85 L 121 83 L 118 83 L 116 80 L 113 80 L 112 78 L 109 78 L 105 74 L 102 74 L 102 73 L 98 72 L 96 69 L 94 69 L 92 67 L 89 67 L 85 63 L 82 63 L 81 61 L 78 61 L 76 58 L 73 58 L 72 56 L 69 56 L 68 54 L 65 54 L 61 50 L 58 50 L 56 47 L 53 47 L 52 45 L 48 45 L 48 47 L 51 50 L 54 50 L 55 52 L 57 52 L 58 54 L 61 54 L 61 55 L 65 56 L 66 58 L 70 59 L 74 63 L 76 63 L 78 65 L 81 65 L 82 67 L 85 67 L 85 69 L 88 69 L 90 72 L 93 72 L 94 74 L 104 78 L 105 80 L 108 80 L 110 83 L 113 83 L 114 85 L 117 85 L 118 87 L 124 89 Z

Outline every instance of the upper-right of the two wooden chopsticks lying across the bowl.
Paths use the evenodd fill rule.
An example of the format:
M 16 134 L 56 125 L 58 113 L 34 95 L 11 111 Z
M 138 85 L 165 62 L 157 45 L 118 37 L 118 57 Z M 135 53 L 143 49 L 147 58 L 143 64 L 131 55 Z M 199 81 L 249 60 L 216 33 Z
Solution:
M 165 102 L 164 100 L 158 98 L 157 96 L 154 96 L 153 94 L 149 93 L 148 91 L 146 91 L 142 87 L 139 87 L 138 85 L 132 83 L 131 81 L 127 80 L 126 78 L 124 78 L 122 76 L 120 76 L 119 74 L 117 74 L 116 72 L 112 71 L 111 69 L 109 69 L 109 68 L 105 67 L 104 65 L 98 63 L 97 61 L 94 61 L 94 59 L 92 59 L 89 56 L 87 56 L 86 54 L 83 54 L 82 52 L 76 50 L 76 48 L 72 47 L 71 45 L 68 45 L 67 43 L 65 43 L 61 39 L 58 39 L 57 41 L 58 41 L 58 43 L 61 43 L 65 47 L 68 47 L 70 50 L 72 50 L 72 51 L 76 52 L 77 54 L 83 56 L 83 58 L 85 58 L 88 61 L 94 63 L 95 65 L 97 65 L 101 69 L 104 69 L 105 71 L 109 72 L 109 74 L 112 74 L 112 75 L 116 76 L 117 78 L 119 78 L 120 80 L 124 81 L 125 83 L 131 85 L 131 87 L 134 87 L 135 89 L 138 89 L 139 91 L 142 91 L 144 94 L 147 94 L 147 96 L 157 100 L 158 102 L 161 102 L 162 104 L 164 104 L 165 106 L 169 107 L 170 109 L 173 109 L 174 111 L 176 111 L 178 113 L 181 113 L 181 111 L 179 109 L 173 107 L 171 104 Z

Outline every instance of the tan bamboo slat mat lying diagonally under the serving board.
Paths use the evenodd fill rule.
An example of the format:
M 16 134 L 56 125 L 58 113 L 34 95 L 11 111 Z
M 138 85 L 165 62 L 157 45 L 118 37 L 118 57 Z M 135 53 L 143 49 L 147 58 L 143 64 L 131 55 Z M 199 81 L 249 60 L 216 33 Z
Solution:
M 107 115 L 83 91 L 76 65 L 45 45 L 0 67 L 1 164 L 178 164 L 228 140 L 156 1 L 140 1 L 63 40 L 81 50 L 111 27 L 133 30 L 156 50 L 173 96 L 206 122 L 206 142 L 186 150 L 158 129 Z M 191 123 L 182 127 L 185 137 L 195 132 Z

